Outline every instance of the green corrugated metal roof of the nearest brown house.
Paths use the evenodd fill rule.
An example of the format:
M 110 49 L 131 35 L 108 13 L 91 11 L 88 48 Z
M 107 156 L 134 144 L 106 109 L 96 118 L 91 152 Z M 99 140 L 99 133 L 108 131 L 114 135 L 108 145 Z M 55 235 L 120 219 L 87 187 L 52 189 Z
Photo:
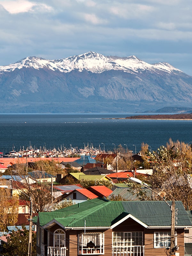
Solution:
M 175 208 L 178 209 L 177 226 L 192 226 L 180 201 L 175 202 Z M 54 212 L 40 212 L 39 220 L 40 225 L 56 220 L 65 228 L 84 228 L 85 225 L 110 227 L 128 215 L 148 228 L 171 226 L 171 209 L 164 201 L 108 201 L 102 198 L 87 200 Z

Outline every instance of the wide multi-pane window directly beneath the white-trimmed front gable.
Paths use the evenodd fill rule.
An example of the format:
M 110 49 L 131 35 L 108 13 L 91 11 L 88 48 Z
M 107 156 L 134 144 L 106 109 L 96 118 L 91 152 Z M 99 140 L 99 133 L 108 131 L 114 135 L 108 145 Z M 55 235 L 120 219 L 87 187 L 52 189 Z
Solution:
M 142 252 L 143 232 L 113 232 L 113 252 Z

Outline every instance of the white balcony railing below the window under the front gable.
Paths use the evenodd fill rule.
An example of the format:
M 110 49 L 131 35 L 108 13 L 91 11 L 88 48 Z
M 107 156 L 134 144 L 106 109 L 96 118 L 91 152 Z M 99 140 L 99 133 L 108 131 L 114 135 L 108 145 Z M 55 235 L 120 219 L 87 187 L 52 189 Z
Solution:
M 113 256 L 145 256 L 145 245 L 114 247 Z

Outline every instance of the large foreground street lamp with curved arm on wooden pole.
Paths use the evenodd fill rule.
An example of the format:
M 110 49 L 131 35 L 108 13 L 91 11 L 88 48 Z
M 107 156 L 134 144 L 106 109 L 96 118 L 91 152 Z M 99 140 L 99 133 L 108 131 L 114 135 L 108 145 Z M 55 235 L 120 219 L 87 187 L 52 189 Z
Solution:
M 161 197 L 163 199 L 163 201 L 169 206 L 169 208 L 171 210 L 171 243 L 170 243 L 170 254 L 169 255 L 174 255 L 175 254 L 174 253 L 174 247 L 175 247 L 175 201 L 172 201 L 172 205 L 168 204 L 167 201 L 162 196 L 160 196 L 155 190 L 153 190 L 146 183 L 143 183 L 141 180 L 139 180 L 137 178 L 130 177 L 129 181 L 138 183 L 138 184 L 142 185 L 143 187 L 150 189 L 156 195 Z

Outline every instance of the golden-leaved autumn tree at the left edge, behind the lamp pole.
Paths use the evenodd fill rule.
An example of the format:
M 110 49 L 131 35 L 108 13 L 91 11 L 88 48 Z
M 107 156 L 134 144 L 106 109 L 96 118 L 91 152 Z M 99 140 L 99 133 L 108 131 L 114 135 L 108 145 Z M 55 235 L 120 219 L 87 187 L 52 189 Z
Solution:
M 9 189 L 0 188 L 0 230 L 14 225 L 18 219 L 19 201 L 17 196 L 11 196 Z

